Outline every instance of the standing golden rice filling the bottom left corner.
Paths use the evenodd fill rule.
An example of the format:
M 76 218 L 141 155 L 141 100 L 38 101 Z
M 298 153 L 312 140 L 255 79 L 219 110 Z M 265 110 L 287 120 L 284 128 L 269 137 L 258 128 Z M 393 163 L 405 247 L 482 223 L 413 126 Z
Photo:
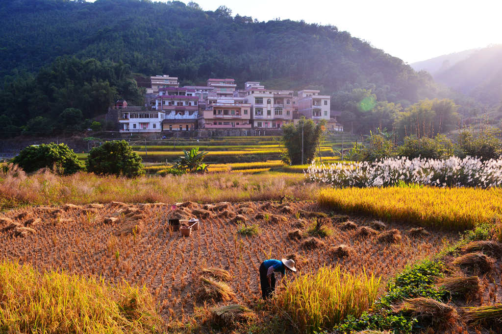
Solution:
M 0 332 L 139 334 L 162 332 L 162 328 L 145 287 L 108 285 L 0 262 Z

